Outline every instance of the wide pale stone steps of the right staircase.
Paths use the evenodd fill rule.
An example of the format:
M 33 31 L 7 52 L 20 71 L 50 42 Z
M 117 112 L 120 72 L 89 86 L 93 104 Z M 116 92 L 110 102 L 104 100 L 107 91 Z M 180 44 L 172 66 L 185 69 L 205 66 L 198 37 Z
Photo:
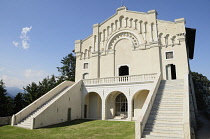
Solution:
M 184 80 L 162 80 L 143 138 L 183 139 Z

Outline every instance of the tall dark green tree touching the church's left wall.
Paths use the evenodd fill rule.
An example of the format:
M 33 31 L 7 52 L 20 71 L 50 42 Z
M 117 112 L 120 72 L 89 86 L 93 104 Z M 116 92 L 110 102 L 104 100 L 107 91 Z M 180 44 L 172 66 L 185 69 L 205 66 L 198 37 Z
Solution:
M 61 76 L 65 77 L 66 80 L 75 81 L 75 67 L 76 67 L 76 57 L 70 53 L 61 60 L 63 64 L 62 67 L 57 67 Z

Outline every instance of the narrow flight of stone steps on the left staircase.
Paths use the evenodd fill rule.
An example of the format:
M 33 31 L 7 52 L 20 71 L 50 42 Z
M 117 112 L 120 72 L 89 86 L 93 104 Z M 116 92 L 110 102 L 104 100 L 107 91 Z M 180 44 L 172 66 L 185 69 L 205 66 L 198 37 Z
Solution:
M 37 108 L 35 111 L 33 111 L 32 113 L 30 113 L 26 118 L 24 118 L 22 121 L 20 121 L 15 126 L 31 129 L 31 124 L 32 124 L 33 117 L 36 117 L 45 108 L 47 108 L 49 105 L 51 105 L 54 102 L 55 99 L 57 99 L 58 97 L 60 97 L 59 94 L 61 94 L 66 88 L 68 88 L 68 87 L 65 87 L 64 89 L 62 89 L 62 91 L 60 91 L 59 93 L 57 93 L 54 97 L 52 97 L 50 100 L 48 100 L 46 103 L 44 103 L 41 107 Z

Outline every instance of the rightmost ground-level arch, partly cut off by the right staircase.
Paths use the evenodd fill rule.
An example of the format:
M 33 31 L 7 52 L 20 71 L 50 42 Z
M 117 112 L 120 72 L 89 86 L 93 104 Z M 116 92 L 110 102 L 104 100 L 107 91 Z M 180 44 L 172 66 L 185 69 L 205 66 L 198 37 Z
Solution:
M 141 109 L 144 106 L 144 102 L 149 94 L 149 90 L 141 90 L 135 93 L 133 96 L 133 108 L 132 108 L 132 116 L 133 120 L 136 120 L 137 117 L 140 116 Z

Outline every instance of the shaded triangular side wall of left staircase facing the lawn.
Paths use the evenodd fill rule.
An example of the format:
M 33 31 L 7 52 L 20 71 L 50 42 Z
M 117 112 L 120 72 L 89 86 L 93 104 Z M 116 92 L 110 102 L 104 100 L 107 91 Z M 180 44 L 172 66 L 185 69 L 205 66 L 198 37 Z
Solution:
M 68 91 L 35 117 L 34 128 L 67 121 L 69 108 L 71 108 L 71 120 L 81 118 L 80 88 L 81 81 L 69 87 Z

